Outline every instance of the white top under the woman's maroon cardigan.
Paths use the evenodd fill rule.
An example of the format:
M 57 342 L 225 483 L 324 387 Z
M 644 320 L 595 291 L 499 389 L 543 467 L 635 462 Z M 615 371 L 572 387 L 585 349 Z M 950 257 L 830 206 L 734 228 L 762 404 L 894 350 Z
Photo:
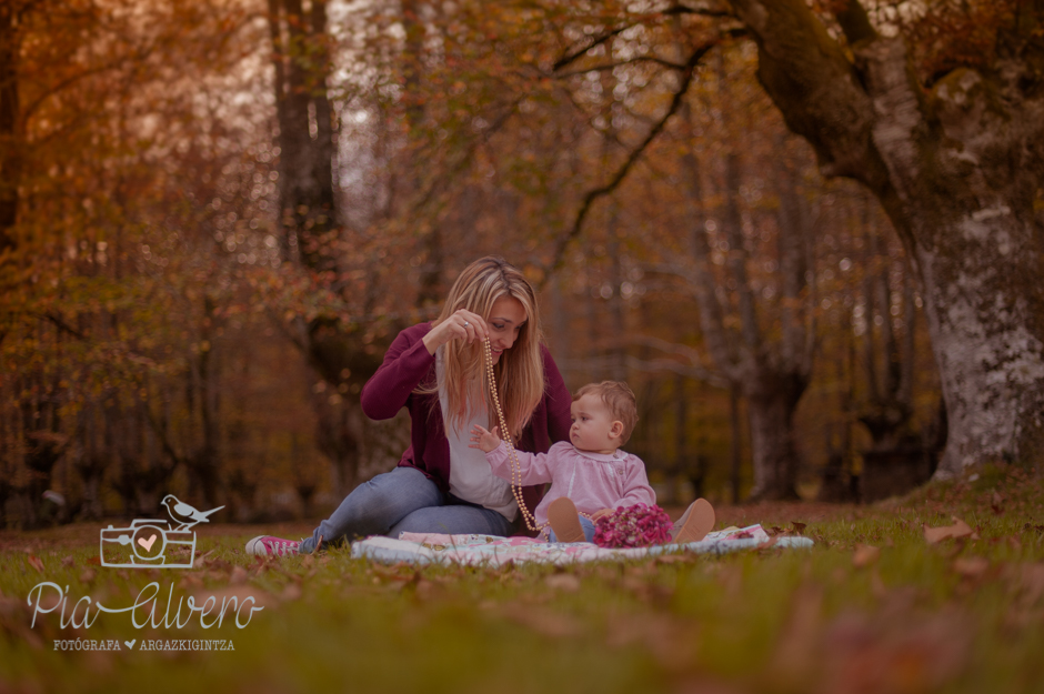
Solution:
M 445 368 L 442 348 L 435 351 L 435 378 L 439 383 L 439 404 L 442 405 L 442 421 L 445 437 L 450 443 L 450 493 L 473 504 L 498 512 L 509 521 L 519 514 L 519 504 L 511 493 L 511 483 L 493 474 L 481 449 L 472 449 L 471 429 L 479 424 L 490 429 L 490 413 L 485 402 L 468 413 L 468 425 L 458 430 L 450 424 L 448 398 L 443 384 Z

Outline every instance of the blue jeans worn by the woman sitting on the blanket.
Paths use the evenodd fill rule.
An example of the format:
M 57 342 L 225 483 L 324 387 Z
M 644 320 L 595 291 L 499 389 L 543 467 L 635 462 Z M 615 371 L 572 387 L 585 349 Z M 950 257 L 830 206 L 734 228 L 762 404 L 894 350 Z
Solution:
M 401 532 L 508 536 L 514 530 L 496 511 L 441 492 L 421 471 L 395 467 L 357 486 L 311 537 L 301 541 L 299 551 L 314 552 L 320 535 L 325 547 L 341 539 L 398 537 Z

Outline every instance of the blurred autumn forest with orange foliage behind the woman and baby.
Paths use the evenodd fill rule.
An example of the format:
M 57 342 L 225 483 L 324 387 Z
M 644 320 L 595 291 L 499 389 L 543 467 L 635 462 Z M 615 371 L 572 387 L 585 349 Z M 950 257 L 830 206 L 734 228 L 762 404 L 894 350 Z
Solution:
M 540 288 L 571 389 L 634 389 L 628 450 L 662 503 L 871 501 L 941 460 L 1028 462 L 941 457 L 947 404 L 971 415 L 943 398 L 960 370 L 923 224 L 886 153 L 889 181 L 845 169 L 787 110 L 759 4 L 6 2 L 2 523 L 168 492 L 229 521 L 324 512 L 408 444 L 362 384 L 485 254 Z M 1040 56 L 1040 2 L 776 4 L 853 74 L 861 44 L 905 47 L 928 95 L 998 73 L 1005 47 Z M 1040 171 L 1005 165 L 1031 180 L 1032 243 L 1002 253 L 1040 263 Z M 1044 381 L 1038 293 L 976 309 L 1024 329 L 996 350 L 1004 388 Z

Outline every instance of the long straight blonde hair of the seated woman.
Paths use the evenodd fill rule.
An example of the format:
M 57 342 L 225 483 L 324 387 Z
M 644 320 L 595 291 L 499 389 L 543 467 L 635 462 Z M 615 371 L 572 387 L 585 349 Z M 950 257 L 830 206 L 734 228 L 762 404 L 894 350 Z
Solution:
M 504 419 L 516 441 L 544 393 L 544 365 L 540 354 L 543 335 L 540 330 L 536 292 L 533 291 L 532 284 L 518 268 L 503 258 L 481 258 L 464 268 L 456 278 L 442 306 L 442 313 L 432 325 L 438 325 L 460 309 L 478 313 L 488 321 L 493 303 L 504 296 L 516 299 L 525 309 L 526 315 L 514 344 L 501 354 L 493 366 Z M 482 343 L 476 341 L 465 344 L 461 340 L 451 340 L 442 350 L 443 385 L 450 414 L 446 425 L 452 424 L 456 429 L 466 426 L 469 410 L 473 412 L 479 402 L 484 403 L 492 414 Z M 438 389 L 438 383 L 428 383 L 421 384 L 415 392 L 434 393 Z M 492 416 L 490 421 L 493 421 Z M 502 437 L 506 435 L 506 432 L 501 432 Z

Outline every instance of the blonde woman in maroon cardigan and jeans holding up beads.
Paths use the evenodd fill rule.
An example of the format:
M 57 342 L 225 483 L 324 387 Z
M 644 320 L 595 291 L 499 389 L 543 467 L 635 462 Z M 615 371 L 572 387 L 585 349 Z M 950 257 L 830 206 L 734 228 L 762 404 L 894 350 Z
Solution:
M 502 258 L 468 265 L 439 319 L 399 333 L 384 362 L 362 389 L 362 410 L 374 420 L 406 408 L 411 445 L 399 466 L 349 494 L 301 542 L 261 535 L 248 554 L 314 552 L 341 539 L 401 532 L 510 535 L 522 526 L 511 486 L 478 449 L 474 425 L 496 425 L 489 395 L 483 341 L 490 340 L 504 419 L 521 451 L 545 453 L 569 440 L 572 398 L 541 344 L 536 294 Z M 532 510 L 540 487 L 524 487 Z

